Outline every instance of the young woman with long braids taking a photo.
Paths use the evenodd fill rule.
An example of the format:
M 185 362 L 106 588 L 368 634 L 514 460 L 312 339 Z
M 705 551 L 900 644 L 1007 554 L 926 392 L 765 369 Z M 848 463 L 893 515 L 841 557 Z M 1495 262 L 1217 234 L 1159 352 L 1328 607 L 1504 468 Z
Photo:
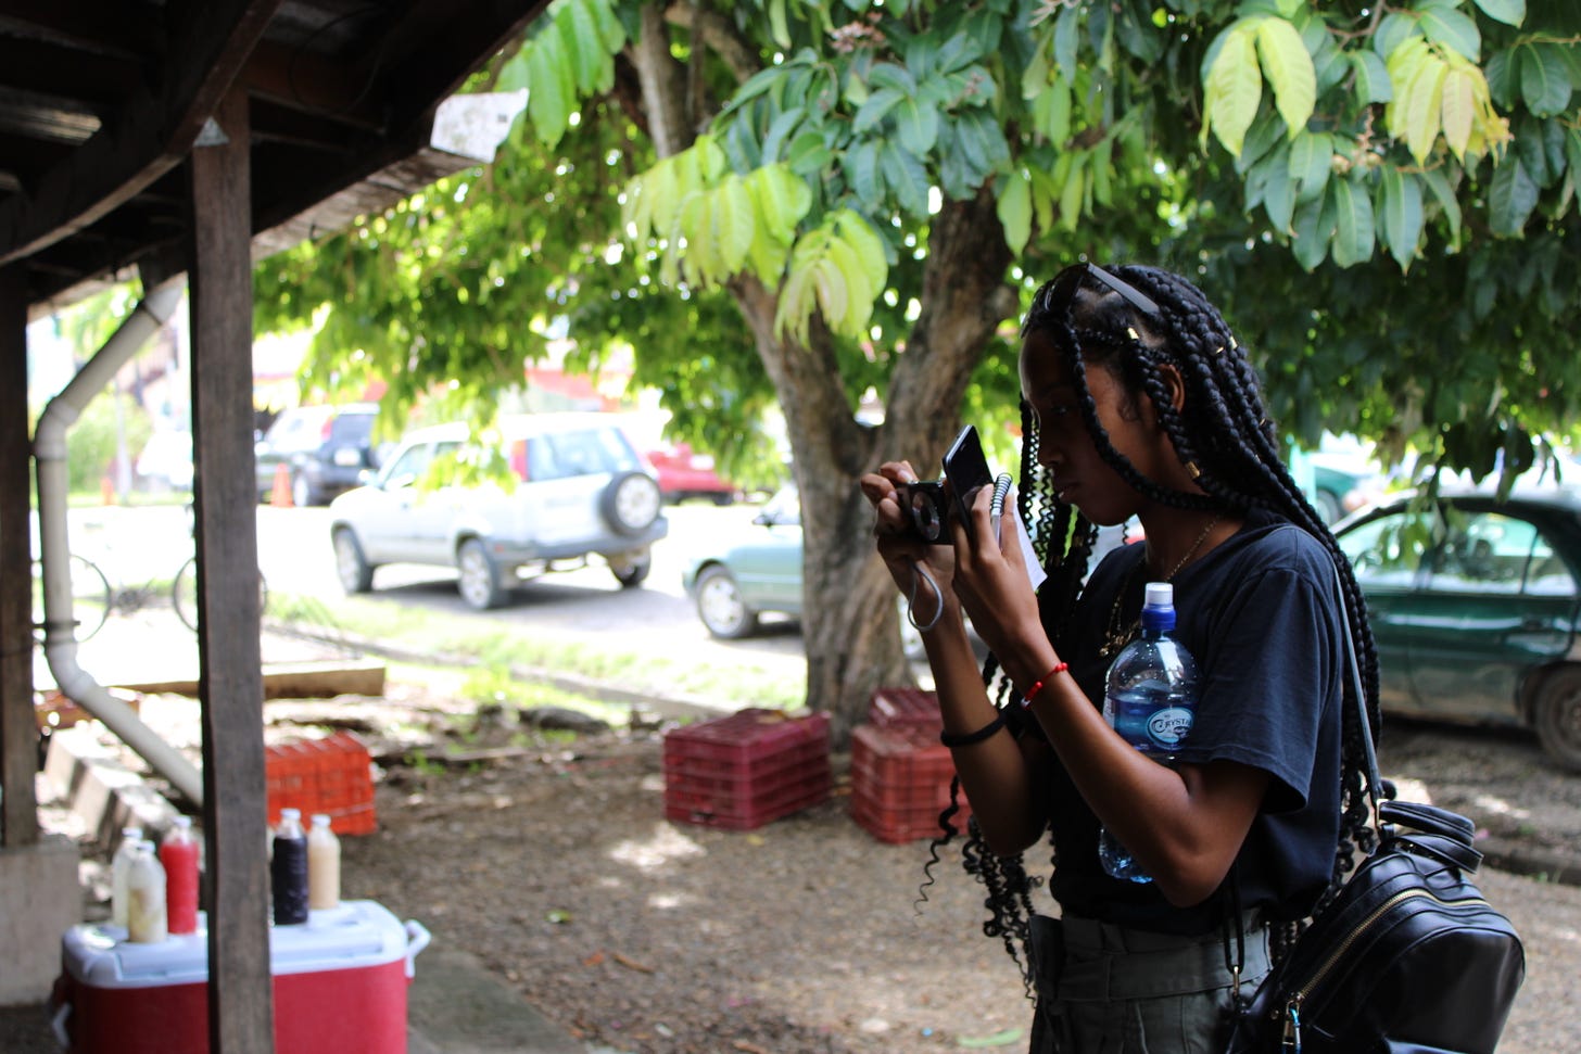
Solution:
M 904 537 L 907 463 L 862 480 L 879 553 L 931 623 L 942 740 L 972 806 L 964 860 L 990 891 L 987 932 L 1012 954 L 1028 943 L 1032 1049 L 1217 1051 L 1232 1000 L 1268 970 L 1271 928 L 1290 932 L 1366 842 L 1342 705 L 1349 616 L 1375 724 L 1361 596 L 1281 463 L 1244 349 L 1194 284 L 1078 264 L 1037 291 L 1021 335 L 1017 509 L 1047 580 L 1034 593 L 1015 515 L 991 540 L 987 488 L 969 506 L 982 544 L 960 525 L 949 547 Z M 1097 526 L 1130 517 L 1146 544 L 1089 569 Z M 1175 637 L 1200 670 L 1173 766 L 1102 716 L 1148 582 L 1175 586 Z M 1100 825 L 1151 882 L 1108 877 Z M 1037 882 L 1020 855 L 1045 836 L 1058 923 L 1028 918 Z

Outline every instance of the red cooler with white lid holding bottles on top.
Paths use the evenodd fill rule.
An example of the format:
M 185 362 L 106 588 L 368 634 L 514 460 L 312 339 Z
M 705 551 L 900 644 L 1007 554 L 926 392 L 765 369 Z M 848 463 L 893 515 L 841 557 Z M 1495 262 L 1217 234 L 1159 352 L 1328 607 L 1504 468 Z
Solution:
M 209 934 L 130 943 L 112 926 L 62 939 L 55 1038 L 71 1054 L 207 1054 Z M 373 901 L 270 926 L 280 1054 L 406 1054 L 406 986 L 428 945 Z

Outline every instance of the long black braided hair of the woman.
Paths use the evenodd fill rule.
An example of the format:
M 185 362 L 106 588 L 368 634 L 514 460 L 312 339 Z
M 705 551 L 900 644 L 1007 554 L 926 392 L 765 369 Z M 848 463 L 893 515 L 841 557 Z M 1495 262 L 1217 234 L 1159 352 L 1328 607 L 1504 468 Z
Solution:
M 1118 280 L 1118 281 L 1116 281 Z M 1186 278 L 1143 265 L 1110 269 L 1077 264 L 1043 283 L 1021 322 L 1023 340 L 1045 333 L 1067 359 L 1077 403 L 1086 431 L 1104 458 L 1130 487 L 1148 499 L 1183 509 L 1252 509 L 1273 512 L 1315 537 L 1339 569 L 1350 635 L 1356 643 L 1356 662 L 1366 692 L 1371 735 L 1379 732 L 1379 668 L 1377 648 L 1368 626 L 1366 602 L 1350 561 L 1323 518 L 1301 493 L 1281 458 L 1279 431 L 1263 408 L 1257 370 L 1240 346 L 1228 324 L 1203 292 Z M 1186 386 L 1190 414 L 1181 414 L 1168 398 L 1159 367 L 1170 363 Z M 1097 406 L 1086 382 L 1091 368 L 1105 368 L 1127 390 L 1151 400 L 1159 422 L 1170 436 L 1175 452 L 1203 493 L 1181 491 L 1143 476 L 1104 430 Z M 1021 484 L 1017 504 L 1024 523 L 1032 525 L 1039 559 L 1048 578 L 1039 589 L 1039 612 L 1056 649 L 1070 640 L 1070 618 L 1091 563 L 1096 525 L 1073 506 L 1062 503 L 1051 477 L 1039 465 L 1039 430 L 1026 401 L 1021 403 Z M 983 667 L 985 684 L 993 686 L 998 664 L 993 656 Z M 1010 687 L 998 678 L 996 703 L 1002 708 Z M 1010 711 L 1015 711 L 1010 706 Z M 1366 787 L 1364 749 L 1356 710 L 1344 706 L 1344 760 L 1341 766 L 1341 831 L 1334 847 L 1334 866 L 1325 901 L 1333 896 L 1358 855 L 1374 847 L 1369 823 L 1369 789 Z M 1015 714 L 1020 717 L 1020 714 Z M 1377 790 L 1377 789 L 1371 789 Z M 931 883 L 931 868 L 939 845 L 958 833 L 953 815 L 958 782 L 952 784 L 952 807 L 941 815 L 944 834 L 934 841 L 925 868 Z M 1028 891 L 1036 885 L 1020 860 L 999 860 L 983 844 L 975 823 L 968 825 L 963 864 L 987 890 L 985 907 L 991 918 L 983 924 L 990 935 L 1026 934 Z M 1058 863 L 1058 861 L 1055 861 Z M 1322 904 L 1322 902 L 1320 902 Z M 1273 934 L 1276 958 L 1289 948 L 1298 926 Z M 1012 956 L 1015 950 L 1012 948 Z M 1031 989 L 1031 975 L 1020 956 L 1023 977 Z

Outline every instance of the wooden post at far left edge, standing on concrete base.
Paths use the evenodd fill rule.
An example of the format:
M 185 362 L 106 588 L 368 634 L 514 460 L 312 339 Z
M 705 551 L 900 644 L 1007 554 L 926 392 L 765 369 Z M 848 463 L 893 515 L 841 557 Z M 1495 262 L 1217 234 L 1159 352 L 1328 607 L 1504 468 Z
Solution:
M 27 468 L 27 275 L 0 267 L 0 845 L 38 842 L 33 558 Z

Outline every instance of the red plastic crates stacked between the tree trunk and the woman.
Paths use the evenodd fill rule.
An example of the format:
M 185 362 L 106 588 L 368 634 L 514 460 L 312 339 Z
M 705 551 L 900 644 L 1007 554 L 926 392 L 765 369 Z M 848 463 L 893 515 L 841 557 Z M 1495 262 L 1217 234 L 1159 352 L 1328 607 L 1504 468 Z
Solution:
M 881 687 L 868 702 L 868 724 L 851 733 L 851 815 L 881 842 L 911 842 L 944 833 L 955 760 L 939 743 L 939 700 L 933 692 Z M 971 806 L 957 793 L 950 815 L 966 830 Z

